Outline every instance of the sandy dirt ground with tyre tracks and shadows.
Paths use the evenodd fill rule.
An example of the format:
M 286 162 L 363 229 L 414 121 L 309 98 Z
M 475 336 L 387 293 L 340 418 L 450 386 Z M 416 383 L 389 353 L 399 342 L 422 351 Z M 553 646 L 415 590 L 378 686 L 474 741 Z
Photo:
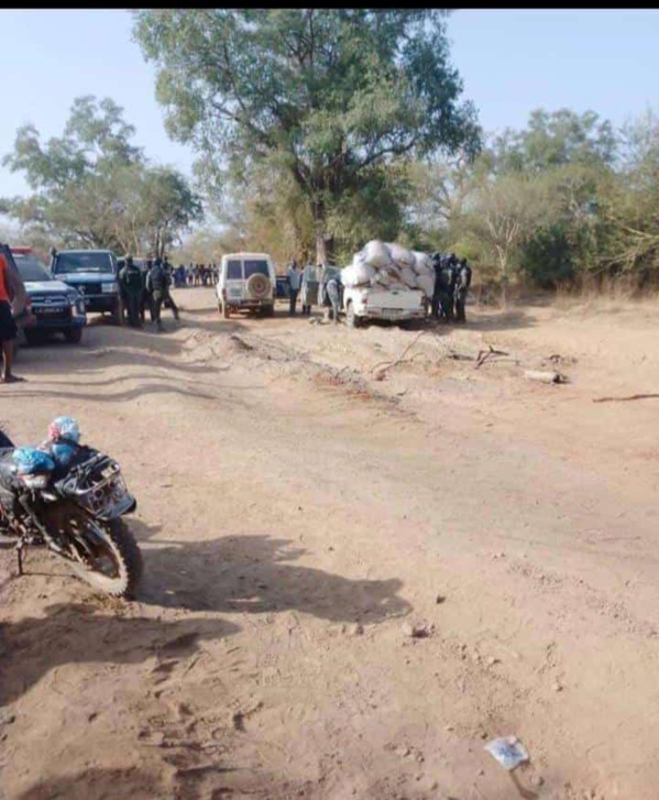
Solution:
M 659 399 L 593 399 L 659 392 L 657 307 L 351 331 L 177 297 L 1 390 L 17 440 L 67 413 L 119 459 L 145 578 L 0 552 L 0 797 L 656 798 Z

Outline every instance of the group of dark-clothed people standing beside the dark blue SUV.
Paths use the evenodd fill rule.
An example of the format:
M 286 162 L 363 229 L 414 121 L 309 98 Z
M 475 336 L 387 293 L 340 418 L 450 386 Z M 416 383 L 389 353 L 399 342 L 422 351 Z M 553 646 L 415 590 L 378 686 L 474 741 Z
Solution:
M 132 328 L 144 325 L 146 308 L 157 331 L 163 330 L 163 306 L 171 308 L 174 319 L 178 319 L 178 307 L 169 292 L 174 270 L 166 259 L 149 259 L 146 270 L 142 271 L 132 255 L 127 255 L 119 262 L 119 267 L 121 296 Z

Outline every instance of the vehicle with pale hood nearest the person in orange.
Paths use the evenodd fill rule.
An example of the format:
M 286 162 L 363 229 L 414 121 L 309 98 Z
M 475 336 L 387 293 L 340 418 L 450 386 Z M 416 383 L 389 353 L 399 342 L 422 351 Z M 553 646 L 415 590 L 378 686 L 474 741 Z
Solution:
M 87 322 L 80 293 L 56 281 L 30 248 L 12 248 L 11 253 L 34 317 L 33 325 L 24 329 L 28 342 L 36 342 L 47 333 L 64 333 L 66 341 L 79 342 Z

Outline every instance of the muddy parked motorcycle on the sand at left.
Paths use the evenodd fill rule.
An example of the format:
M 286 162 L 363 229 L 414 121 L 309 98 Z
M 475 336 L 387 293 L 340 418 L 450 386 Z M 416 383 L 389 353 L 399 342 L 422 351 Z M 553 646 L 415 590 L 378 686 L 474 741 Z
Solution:
M 132 598 L 142 576 L 142 555 L 122 517 L 135 511 L 121 468 L 94 448 L 77 446 L 65 468 L 45 457 L 22 471 L 13 442 L 0 438 L 0 535 L 15 538 L 19 576 L 23 551 L 45 546 L 73 572 L 113 598 Z M 50 461 L 50 463 L 48 463 Z M 52 469 L 55 467 L 55 469 Z

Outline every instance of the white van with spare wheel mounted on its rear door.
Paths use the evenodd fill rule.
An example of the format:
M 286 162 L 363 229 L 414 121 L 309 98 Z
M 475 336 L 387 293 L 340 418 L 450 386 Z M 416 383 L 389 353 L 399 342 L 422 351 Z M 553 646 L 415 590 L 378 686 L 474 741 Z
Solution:
M 218 310 L 229 319 L 231 311 L 275 313 L 277 277 L 267 253 L 229 253 L 222 255 L 216 286 Z

